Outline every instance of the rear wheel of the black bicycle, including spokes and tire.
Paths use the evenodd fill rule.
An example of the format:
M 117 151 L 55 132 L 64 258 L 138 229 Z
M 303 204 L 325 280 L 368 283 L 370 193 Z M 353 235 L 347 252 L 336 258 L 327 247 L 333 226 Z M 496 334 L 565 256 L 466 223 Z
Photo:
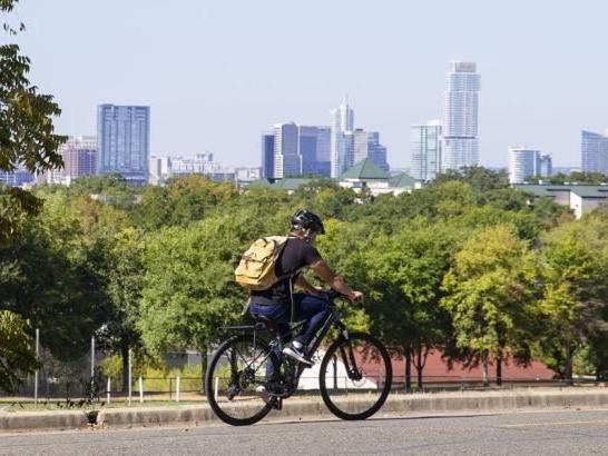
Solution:
M 205 374 L 207 400 L 224 423 L 254 424 L 273 408 L 273 400 L 256 391 L 266 386 L 266 366 L 278 360 L 268 345 L 248 335 L 234 336 L 215 351 Z

